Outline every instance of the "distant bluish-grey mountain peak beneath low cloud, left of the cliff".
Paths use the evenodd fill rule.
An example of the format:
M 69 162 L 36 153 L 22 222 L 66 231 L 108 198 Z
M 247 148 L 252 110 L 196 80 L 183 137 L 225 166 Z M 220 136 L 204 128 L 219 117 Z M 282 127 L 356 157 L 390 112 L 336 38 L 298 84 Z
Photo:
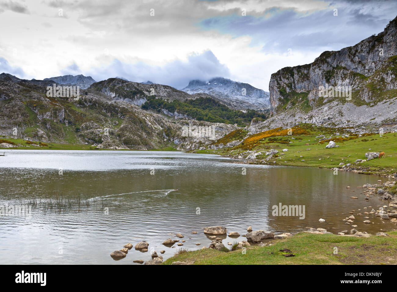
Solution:
M 248 83 L 236 82 L 222 77 L 212 78 L 209 81 L 191 80 L 182 91 L 189 94 L 210 94 L 218 101 L 237 110 L 264 110 L 269 108 L 268 92 L 255 88 Z

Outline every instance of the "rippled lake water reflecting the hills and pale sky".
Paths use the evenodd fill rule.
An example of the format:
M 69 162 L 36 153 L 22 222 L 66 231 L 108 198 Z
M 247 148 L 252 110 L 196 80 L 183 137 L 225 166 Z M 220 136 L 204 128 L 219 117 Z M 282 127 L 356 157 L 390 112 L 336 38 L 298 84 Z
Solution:
M 181 152 L 8 150 L 6 155 L 0 157 L 0 205 L 33 207 L 30 216 L 0 216 L 1 264 L 132 264 L 162 249 L 166 259 L 179 247 L 165 247 L 164 240 L 178 239 L 179 232 L 183 248 L 208 247 L 202 228 L 216 225 L 240 234 L 248 226 L 276 234 L 312 226 L 336 234 L 352 228 L 341 220 L 351 210 L 356 216 L 364 207 L 383 205 L 376 197 L 365 202 L 357 188 L 379 178 L 350 172 L 236 164 Z M 304 205 L 305 218 L 272 216 L 279 203 Z M 356 229 L 392 228 L 370 218 L 376 224 L 358 218 Z M 131 249 L 119 261 L 110 257 L 124 244 L 143 240 L 149 252 Z M 227 237 L 224 244 L 241 240 Z

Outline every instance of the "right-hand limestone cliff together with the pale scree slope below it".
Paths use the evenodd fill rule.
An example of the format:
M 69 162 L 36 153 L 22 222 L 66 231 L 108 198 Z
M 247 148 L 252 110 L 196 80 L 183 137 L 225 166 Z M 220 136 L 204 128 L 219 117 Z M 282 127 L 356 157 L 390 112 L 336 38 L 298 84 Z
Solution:
M 322 92 L 322 86 L 336 90 Z M 354 46 L 324 52 L 311 64 L 282 68 L 272 74 L 269 91 L 270 110 L 276 115 L 258 125 L 260 129 L 297 122 L 395 125 L 397 17 L 383 32 Z

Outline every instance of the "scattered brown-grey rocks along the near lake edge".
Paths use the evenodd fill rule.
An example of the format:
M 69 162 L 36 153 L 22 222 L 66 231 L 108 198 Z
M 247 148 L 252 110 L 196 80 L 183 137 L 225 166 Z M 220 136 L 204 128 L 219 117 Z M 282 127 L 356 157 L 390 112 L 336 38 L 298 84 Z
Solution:
M 372 234 L 363 230 L 365 228 L 358 228 L 357 226 L 358 223 L 356 222 L 360 222 L 360 220 L 362 220 L 362 223 L 364 223 L 364 225 L 376 224 L 375 221 L 380 220 L 380 222 L 382 223 L 387 222 L 393 224 L 392 226 L 387 226 L 386 230 L 395 230 L 395 224 L 397 224 L 396 187 L 397 187 L 396 182 L 391 180 L 388 180 L 383 183 L 381 180 L 378 180 L 378 184 L 365 184 L 363 186 L 357 186 L 357 188 L 362 189 L 362 192 L 359 195 L 360 199 L 363 199 L 364 201 L 368 201 L 369 197 L 377 197 L 382 204 L 378 206 L 363 207 L 362 210 L 361 209 L 351 210 L 349 212 L 351 214 L 349 217 L 341 219 L 342 221 L 345 222 L 345 224 L 349 225 L 348 228 L 346 228 L 345 230 L 340 230 L 339 232 L 336 233 L 336 235 L 355 236 L 355 237 L 373 236 Z M 347 186 L 347 188 L 350 189 L 351 187 Z M 352 196 L 351 199 L 359 199 L 359 197 Z M 324 221 L 326 221 L 326 219 L 319 220 L 319 222 L 324 222 Z M 356 228 L 360 229 L 360 231 L 357 230 Z M 332 228 L 332 229 L 336 229 L 336 228 Z M 306 227 L 304 232 L 312 233 L 312 234 L 334 234 L 329 230 L 330 228 L 326 229 L 321 227 L 318 228 Z M 376 233 L 376 236 L 388 236 L 388 234 L 386 234 L 384 231 L 385 230 L 383 228 L 382 229 L 380 228 L 379 232 Z M 273 244 L 272 240 L 284 239 L 294 235 L 289 232 L 284 232 L 282 234 L 274 234 L 273 232 L 268 232 L 265 230 L 252 230 L 251 226 L 247 228 L 247 233 L 243 235 L 240 235 L 238 232 L 227 233 L 227 228 L 224 226 L 206 227 L 203 228 L 203 233 L 204 235 L 206 235 L 206 237 L 209 240 L 211 240 L 211 242 L 208 247 L 204 246 L 201 249 L 216 249 L 222 252 L 229 252 L 238 249 L 247 249 L 250 248 L 252 245 L 271 246 Z M 197 231 L 193 231 L 191 232 L 191 234 L 197 234 Z M 227 248 L 224 243 L 224 240 L 227 238 L 227 235 L 229 236 L 229 238 L 239 238 L 240 236 L 243 236 L 246 238 L 246 240 L 242 240 L 234 243 L 227 242 L 226 246 L 231 246 L 231 248 Z M 176 233 L 175 239 L 168 238 L 164 240 L 162 244 L 166 248 L 175 248 L 175 244 L 176 246 L 183 246 L 183 243 L 186 242 L 186 240 L 183 240 L 182 238 L 185 238 L 185 235 L 181 233 Z M 264 240 L 266 240 L 266 242 L 264 242 Z M 199 246 L 200 243 L 196 243 L 196 245 Z M 122 249 L 113 251 L 110 254 L 110 256 L 115 260 L 123 259 L 126 257 L 128 251 L 133 247 L 135 248 L 135 250 L 145 253 L 148 251 L 148 246 L 149 243 L 145 241 L 137 243 L 135 247 L 133 246 L 133 244 L 127 243 L 123 246 Z M 183 249 L 183 248 L 179 249 L 177 253 L 175 253 L 175 255 L 184 253 L 186 251 L 187 249 Z M 165 252 L 166 250 L 163 249 L 160 251 L 160 254 L 164 254 Z M 285 256 L 294 256 L 294 255 L 292 253 L 287 252 Z M 133 262 L 139 264 L 144 263 L 145 265 L 160 265 L 163 263 L 163 257 L 161 255 L 158 255 L 157 251 L 152 251 L 150 260 L 145 262 L 143 259 L 137 259 L 134 260 Z M 172 264 L 189 265 L 193 263 L 194 262 L 189 262 L 189 261 L 188 262 L 175 261 Z

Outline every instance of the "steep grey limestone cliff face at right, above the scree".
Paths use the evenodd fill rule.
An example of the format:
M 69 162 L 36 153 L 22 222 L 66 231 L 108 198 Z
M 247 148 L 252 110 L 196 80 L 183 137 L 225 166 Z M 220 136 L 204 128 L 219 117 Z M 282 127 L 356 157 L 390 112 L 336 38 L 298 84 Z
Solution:
M 395 96 L 397 89 L 397 17 L 385 30 L 339 51 L 326 51 L 314 62 L 285 67 L 270 78 L 272 114 L 300 107 L 309 112 L 326 103 L 346 102 L 345 97 L 320 93 L 326 85 L 350 88 L 348 102 L 365 104 Z M 338 93 L 336 93 L 338 95 Z M 393 96 L 393 97 L 394 97 Z

